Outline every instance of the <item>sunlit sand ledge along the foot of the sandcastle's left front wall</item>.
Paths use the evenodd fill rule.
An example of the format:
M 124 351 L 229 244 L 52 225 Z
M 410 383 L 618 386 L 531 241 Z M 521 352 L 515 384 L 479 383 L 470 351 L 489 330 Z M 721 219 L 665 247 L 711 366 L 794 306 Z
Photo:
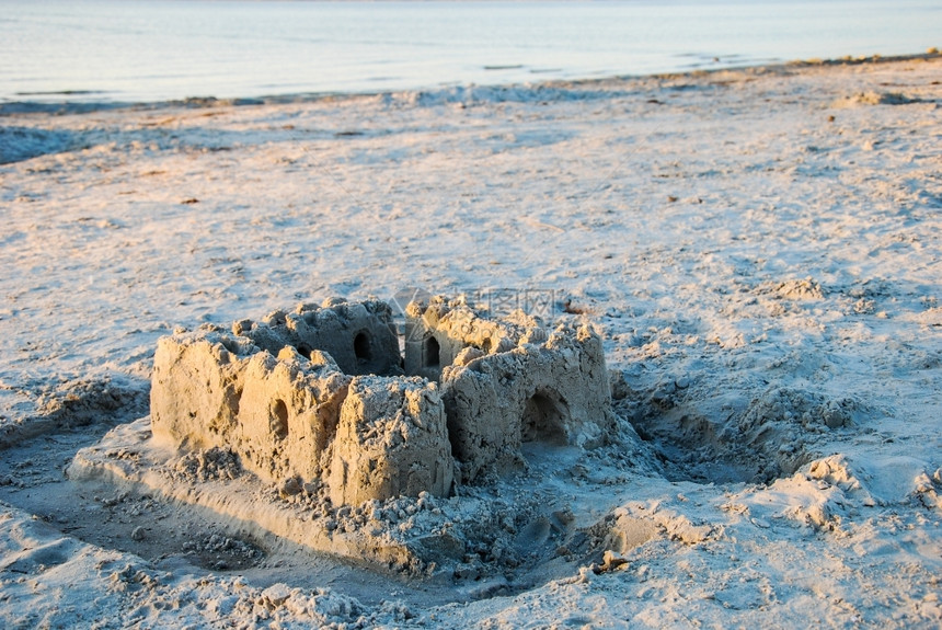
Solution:
M 120 490 L 209 509 L 237 534 L 273 535 L 375 565 L 424 569 L 440 555 L 428 548 L 448 547 L 445 534 L 400 532 L 398 524 L 372 518 L 370 509 L 357 514 L 352 508 L 341 514 L 324 509 L 311 501 L 318 496 L 315 489 L 264 484 L 226 451 L 209 449 L 181 457 L 154 447 L 149 417 L 118 426 L 100 444 L 79 451 L 68 474 L 74 481 L 105 481 Z

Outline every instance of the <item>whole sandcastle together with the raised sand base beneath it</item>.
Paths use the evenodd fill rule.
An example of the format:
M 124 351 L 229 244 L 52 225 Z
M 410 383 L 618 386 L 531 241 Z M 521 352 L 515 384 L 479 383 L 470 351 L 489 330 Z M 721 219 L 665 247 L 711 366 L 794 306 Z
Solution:
M 69 476 L 197 506 L 243 537 L 445 571 L 474 582 L 469 598 L 594 553 L 595 523 L 573 516 L 564 478 L 608 484 L 632 451 L 605 447 L 627 425 L 600 337 L 436 297 L 409 305 L 399 348 L 389 306 L 374 300 L 163 337 L 150 417 L 80 450 Z

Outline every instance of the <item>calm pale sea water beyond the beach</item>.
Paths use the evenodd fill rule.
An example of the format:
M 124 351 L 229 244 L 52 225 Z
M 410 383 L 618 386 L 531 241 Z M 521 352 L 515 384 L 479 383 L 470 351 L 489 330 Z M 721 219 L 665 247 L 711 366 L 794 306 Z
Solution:
M 939 0 L 0 0 L 0 103 L 434 90 L 930 46 Z

